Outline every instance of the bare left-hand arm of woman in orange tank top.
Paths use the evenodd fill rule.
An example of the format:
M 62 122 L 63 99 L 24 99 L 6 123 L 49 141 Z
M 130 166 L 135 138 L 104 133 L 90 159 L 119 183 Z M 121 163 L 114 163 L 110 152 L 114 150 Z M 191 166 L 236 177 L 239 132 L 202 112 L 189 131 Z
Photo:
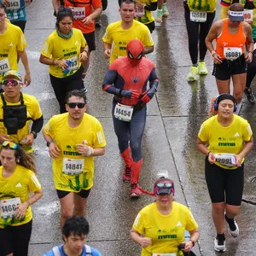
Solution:
M 217 22 L 213 23 L 210 31 L 207 34 L 207 38 L 206 38 L 206 45 L 207 45 L 207 49 L 210 51 L 212 57 L 213 57 L 213 61 L 215 64 L 220 64 L 222 63 L 219 55 L 215 52 L 213 45 L 212 45 L 212 41 L 215 40 L 219 33 L 222 30 L 222 20 L 218 20 Z

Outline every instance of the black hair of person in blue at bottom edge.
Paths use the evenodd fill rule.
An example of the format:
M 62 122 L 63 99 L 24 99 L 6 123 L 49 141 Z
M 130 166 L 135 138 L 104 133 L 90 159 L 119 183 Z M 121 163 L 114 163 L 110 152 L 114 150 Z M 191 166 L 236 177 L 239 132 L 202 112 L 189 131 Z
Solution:
M 87 236 L 89 233 L 89 223 L 86 218 L 81 216 L 73 216 L 67 218 L 67 221 L 62 227 L 63 236 Z

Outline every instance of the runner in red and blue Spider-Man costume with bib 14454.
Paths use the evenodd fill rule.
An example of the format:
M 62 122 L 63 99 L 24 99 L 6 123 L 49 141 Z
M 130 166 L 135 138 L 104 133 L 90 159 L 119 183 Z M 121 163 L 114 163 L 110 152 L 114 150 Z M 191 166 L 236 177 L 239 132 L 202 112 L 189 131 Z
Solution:
M 131 181 L 131 197 L 138 197 L 142 193 L 138 179 L 143 164 L 146 103 L 153 98 L 159 84 L 154 63 L 143 57 L 143 48 L 140 40 L 131 40 L 126 46 L 127 56 L 113 61 L 102 85 L 103 90 L 114 95 L 113 127 L 120 154 L 125 160 L 123 181 Z

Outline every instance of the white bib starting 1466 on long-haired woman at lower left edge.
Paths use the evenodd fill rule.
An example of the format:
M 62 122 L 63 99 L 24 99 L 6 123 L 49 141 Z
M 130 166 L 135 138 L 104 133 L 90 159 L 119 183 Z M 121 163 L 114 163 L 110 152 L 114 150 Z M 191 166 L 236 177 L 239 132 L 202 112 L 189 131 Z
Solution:
M 19 205 L 20 197 L 0 200 L 1 218 L 14 218 Z

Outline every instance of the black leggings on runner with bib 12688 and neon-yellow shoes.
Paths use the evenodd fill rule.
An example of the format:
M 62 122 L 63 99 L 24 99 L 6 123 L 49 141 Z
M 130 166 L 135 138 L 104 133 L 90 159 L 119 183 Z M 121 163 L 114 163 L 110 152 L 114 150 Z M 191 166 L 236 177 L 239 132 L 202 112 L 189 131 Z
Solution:
M 215 11 L 213 13 L 207 13 L 206 22 L 190 21 L 189 8 L 185 7 L 185 20 L 189 37 L 189 55 L 192 64 L 196 64 L 198 60 L 198 41 L 200 61 L 203 61 L 205 59 L 205 56 L 207 54 L 207 46 L 205 40 L 212 26 L 212 21 L 214 20 L 214 17 Z

